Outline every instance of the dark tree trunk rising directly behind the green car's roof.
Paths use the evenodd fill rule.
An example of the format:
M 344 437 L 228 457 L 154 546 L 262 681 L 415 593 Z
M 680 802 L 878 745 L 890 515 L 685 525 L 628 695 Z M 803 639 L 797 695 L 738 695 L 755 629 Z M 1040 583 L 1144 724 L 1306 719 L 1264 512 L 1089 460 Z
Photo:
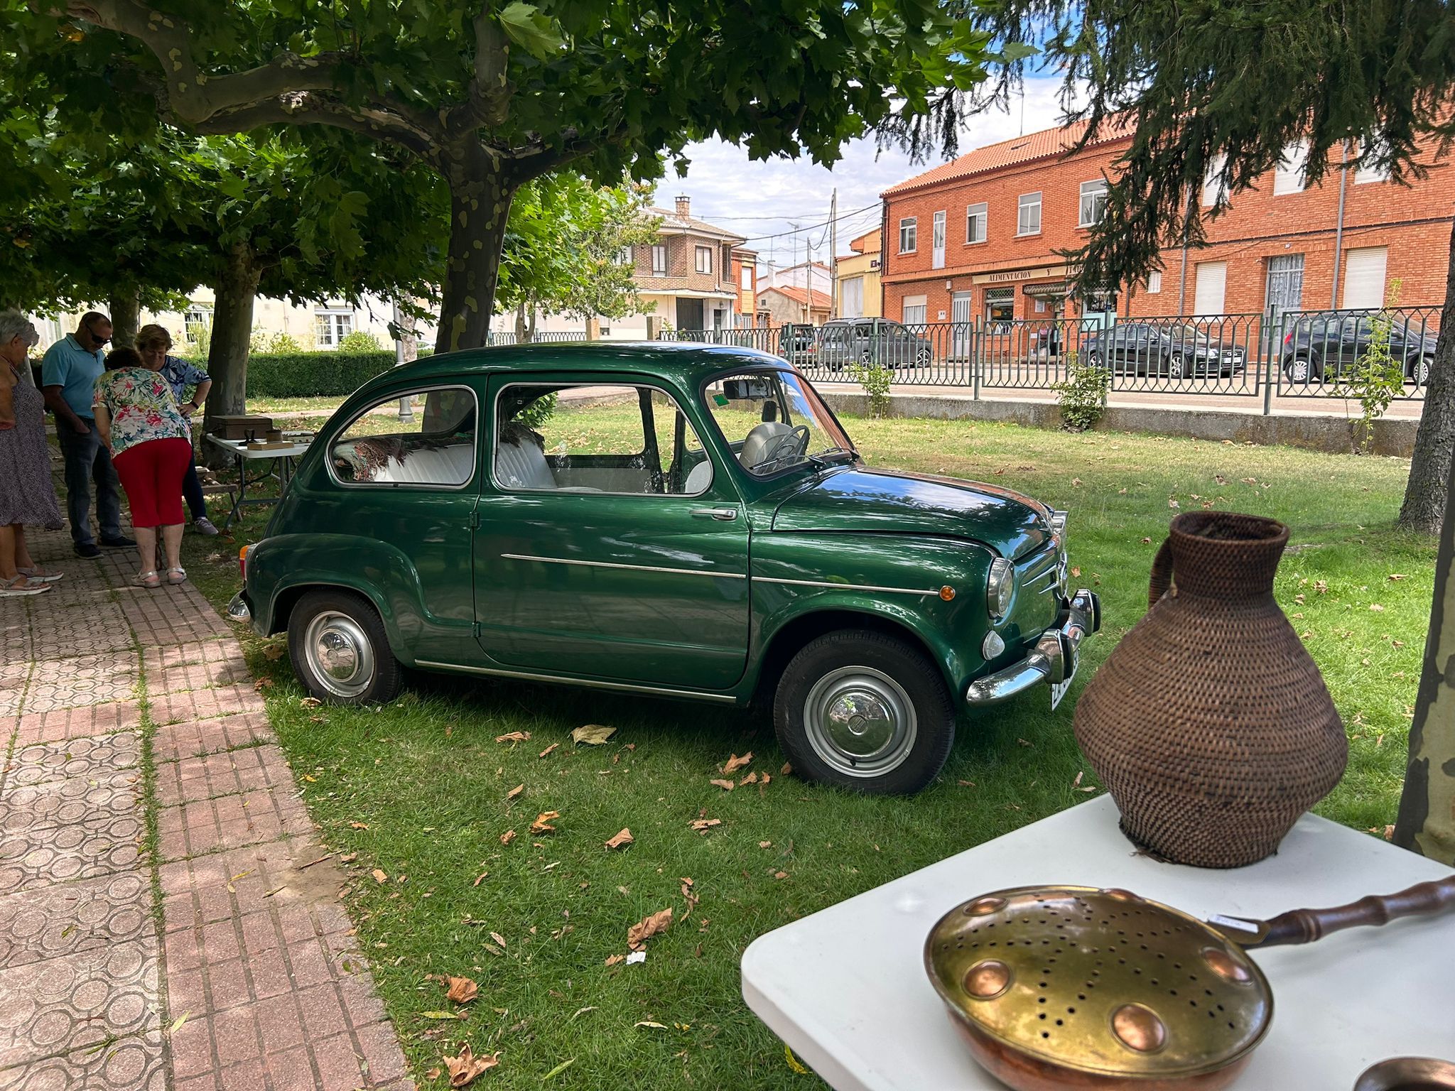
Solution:
M 450 255 L 435 352 L 485 345 L 495 307 L 505 221 L 512 189 L 483 147 L 469 148 L 445 170 L 450 183 Z

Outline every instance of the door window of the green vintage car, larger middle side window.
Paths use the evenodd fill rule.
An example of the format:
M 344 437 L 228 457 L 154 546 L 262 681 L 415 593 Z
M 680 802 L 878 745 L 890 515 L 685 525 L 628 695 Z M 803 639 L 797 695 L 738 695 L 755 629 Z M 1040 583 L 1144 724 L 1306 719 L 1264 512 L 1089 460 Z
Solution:
M 495 419 L 501 489 L 691 496 L 711 484 L 695 429 L 655 387 L 511 384 Z

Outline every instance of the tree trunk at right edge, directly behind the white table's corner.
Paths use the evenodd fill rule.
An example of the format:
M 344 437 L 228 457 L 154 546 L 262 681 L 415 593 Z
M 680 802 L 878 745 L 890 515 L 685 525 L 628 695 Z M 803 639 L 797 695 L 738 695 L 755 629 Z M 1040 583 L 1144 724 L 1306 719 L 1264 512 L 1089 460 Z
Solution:
M 1449 310 L 1449 307 L 1446 307 Z M 1429 412 L 1429 410 L 1426 410 Z M 1446 481 L 1446 496 L 1455 481 Z M 1404 772 L 1394 844 L 1442 864 L 1455 864 L 1455 518 L 1448 513 L 1435 563 L 1435 605 L 1424 642 L 1420 692 L 1410 724 L 1410 764 Z

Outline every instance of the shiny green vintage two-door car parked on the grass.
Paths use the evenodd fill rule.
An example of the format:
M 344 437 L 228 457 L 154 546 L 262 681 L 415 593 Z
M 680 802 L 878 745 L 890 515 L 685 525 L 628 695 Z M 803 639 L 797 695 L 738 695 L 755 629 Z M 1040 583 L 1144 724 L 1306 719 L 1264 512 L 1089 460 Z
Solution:
M 861 791 L 930 783 L 968 708 L 1053 704 L 1100 624 L 1065 512 L 870 468 L 780 358 L 671 342 L 371 380 L 243 567 L 233 615 L 320 700 L 388 701 L 402 666 L 761 698 L 797 772 Z

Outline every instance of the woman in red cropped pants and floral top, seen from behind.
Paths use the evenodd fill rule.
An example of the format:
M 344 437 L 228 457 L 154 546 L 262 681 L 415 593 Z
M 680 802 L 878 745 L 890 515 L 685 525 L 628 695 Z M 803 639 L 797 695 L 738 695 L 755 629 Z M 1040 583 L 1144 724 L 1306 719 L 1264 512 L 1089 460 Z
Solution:
M 96 380 L 96 429 L 111 449 L 137 534 L 137 583 L 162 586 L 157 532 L 167 554 L 167 583 L 182 583 L 182 479 L 192 461 L 192 429 L 172 385 L 135 349 L 115 349 Z

